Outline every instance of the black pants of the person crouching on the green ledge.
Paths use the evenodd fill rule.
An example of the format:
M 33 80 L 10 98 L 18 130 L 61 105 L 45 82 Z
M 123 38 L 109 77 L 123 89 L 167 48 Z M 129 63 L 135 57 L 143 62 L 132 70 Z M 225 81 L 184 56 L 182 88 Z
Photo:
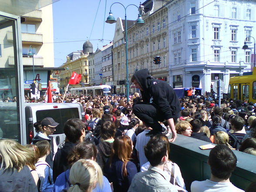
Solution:
M 164 121 L 164 116 L 152 104 L 135 104 L 132 108 L 133 113 L 146 125 L 151 127 L 156 132 L 162 132 L 163 127 L 158 121 Z

